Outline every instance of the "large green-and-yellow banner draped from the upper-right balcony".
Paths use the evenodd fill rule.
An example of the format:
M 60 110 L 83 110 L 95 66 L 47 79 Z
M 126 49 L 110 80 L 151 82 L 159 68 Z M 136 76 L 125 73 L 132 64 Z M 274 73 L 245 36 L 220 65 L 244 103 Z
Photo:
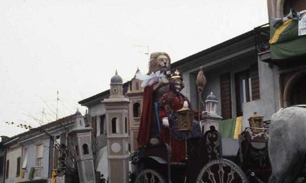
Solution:
M 306 54 L 306 36 L 298 36 L 298 20 L 270 25 L 271 59 L 284 59 Z

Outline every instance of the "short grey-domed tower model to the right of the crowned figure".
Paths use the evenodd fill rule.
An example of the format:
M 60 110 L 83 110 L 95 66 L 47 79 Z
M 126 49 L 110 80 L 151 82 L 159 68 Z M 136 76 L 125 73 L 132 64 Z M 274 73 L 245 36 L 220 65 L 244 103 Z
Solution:
M 205 111 L 202 112 L 202 119 L 200 121 L 200 126 L 204 132 L 210 130 L 210 126 L 214 126 L 216 130 L 219 129 L 219 123 L 222 119 L 216 112 L 217 110 L 217 97 L 211 93 L 207 96 L 205 101 Z

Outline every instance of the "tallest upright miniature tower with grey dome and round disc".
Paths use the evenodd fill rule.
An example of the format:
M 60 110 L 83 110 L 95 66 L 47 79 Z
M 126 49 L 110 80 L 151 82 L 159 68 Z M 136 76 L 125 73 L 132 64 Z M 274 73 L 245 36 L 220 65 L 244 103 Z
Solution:
M 122 78 L 111 78 L 110 98 L 104 99 L 106 109 L 107 151 L 109 182 L 129 182 L 129 133 L 130 101 L 123 96 Z

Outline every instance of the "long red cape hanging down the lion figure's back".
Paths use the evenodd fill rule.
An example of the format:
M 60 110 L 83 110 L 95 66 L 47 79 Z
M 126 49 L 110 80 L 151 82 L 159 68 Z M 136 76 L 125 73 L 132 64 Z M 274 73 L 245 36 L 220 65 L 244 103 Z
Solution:
M 138 146 L 147 145 L 150 140 L 150 128 L 152 113 L 154 112 L 153 87 L 155 84 L 146 86 L 143 90 L 142 114 L 138 131 Z

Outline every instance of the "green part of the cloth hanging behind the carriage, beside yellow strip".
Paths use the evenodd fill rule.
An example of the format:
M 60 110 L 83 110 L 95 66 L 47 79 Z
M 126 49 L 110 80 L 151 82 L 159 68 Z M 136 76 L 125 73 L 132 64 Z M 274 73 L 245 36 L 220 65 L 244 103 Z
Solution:
M 219 123 L 219 132 L 222 138 L 234 138 L 236 126 L 236 117 L 221 120 Z

